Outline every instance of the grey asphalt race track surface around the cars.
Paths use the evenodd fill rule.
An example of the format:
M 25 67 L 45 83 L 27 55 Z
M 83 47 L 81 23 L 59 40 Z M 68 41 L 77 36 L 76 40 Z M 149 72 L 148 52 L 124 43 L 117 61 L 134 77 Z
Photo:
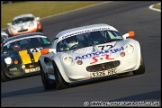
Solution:
M 43 19 L 44 34 L 50 39 L 61 30 L 94 23 L 110 24 L 122 34 L 134 30 L 134 39 L 142 46 L 145 74 L 130 73 L 48 91 L 43 89 L 40 75 L 2 82 L 1 106 L 84 107 L 94 102 L 161 106 L 161 12 L 148 8 L 154 3 L 157 1 L 107 2 Z

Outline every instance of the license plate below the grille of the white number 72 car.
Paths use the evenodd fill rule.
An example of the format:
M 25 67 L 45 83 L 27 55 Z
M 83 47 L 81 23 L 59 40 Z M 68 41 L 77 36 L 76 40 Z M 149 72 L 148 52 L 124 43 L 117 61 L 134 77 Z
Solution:
M 113 74 L 117 74 L 117 70 L 115 68 L 104 70 L 104 71 L 91 72 L 90 76 L 91 78 L 95 78 L 95 77 L 109 76 Z

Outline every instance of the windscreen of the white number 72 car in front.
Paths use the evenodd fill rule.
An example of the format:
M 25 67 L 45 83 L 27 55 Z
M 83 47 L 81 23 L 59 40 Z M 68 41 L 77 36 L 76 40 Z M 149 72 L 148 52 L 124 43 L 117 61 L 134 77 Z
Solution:
M 59 41 L 57 44 L 57 51 L 69 51 L 76 48 L 79 49 L 107 42 L 119 41 L 122 39 L 122 35 L 117 31 L 105 30 L 88 32 L 79 35 L 74 35 Z

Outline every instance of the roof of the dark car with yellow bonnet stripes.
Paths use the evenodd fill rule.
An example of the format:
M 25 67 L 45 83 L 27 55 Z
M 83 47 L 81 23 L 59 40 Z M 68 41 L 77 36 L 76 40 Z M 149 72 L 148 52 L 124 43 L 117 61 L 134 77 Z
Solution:
M 13 36 L 13 37 L 9 37 L 7 38 L 4 43 L 6 43 L 7 41 L 11 41 L 11 40 L 14 40 L 14 39 L 19 39 L 19 38 L 22 38 L 22 37 L 32 37 L 33 35 L 43 35 L 45 36 L 43 33 L 41 32 L 34 32 L 34 33 L 28 33 L 28 34 L 21 34 L 21 35 L 18 35 L 18 36 Z

